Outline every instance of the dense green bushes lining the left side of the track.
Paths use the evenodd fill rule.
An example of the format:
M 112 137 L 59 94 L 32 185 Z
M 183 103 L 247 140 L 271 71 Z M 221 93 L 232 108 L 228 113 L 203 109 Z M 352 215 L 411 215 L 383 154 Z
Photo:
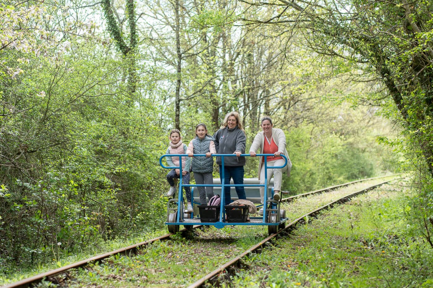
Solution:
M 3 53 L 5 66 L 25 71 L 0 77 L 9 111 L 0 127 L 3 273 L 162 223 L 155 147 L 166 144 L 157 110 L 150 99 L 129 105 L 127 61 L 89 62 L 85 48 L 76 52 L 62 63 Z M 146 83 L 151 77 L 140 88 Z

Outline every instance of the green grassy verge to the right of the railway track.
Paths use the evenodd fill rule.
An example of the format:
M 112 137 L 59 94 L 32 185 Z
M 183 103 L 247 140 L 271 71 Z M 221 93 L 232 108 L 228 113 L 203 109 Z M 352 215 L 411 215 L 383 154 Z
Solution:
M 404 222 L 407 189 L 386 185 L 246 259 L 231 287 L 432 287 L 433 250 Z

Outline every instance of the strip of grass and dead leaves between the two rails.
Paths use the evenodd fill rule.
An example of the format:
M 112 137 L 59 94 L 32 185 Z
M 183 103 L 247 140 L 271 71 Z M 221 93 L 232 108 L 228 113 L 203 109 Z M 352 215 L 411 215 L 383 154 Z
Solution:
M 383 179 L 310 195 L 290 203 L 288 207 L 293 209 L 293 217 L 299 217 L 301 210 L 310 211 L 332 199 L 381 181 Z M 266 236 L 267 229 L 260 226 L 225 227 L 222 230 L 210 227 L 197 230 L 197 234 L 190 234 L 190 238 L 176 235 L 169 241 L 151 245 L 138 256 L 114 256 L 101 266 L 74 273 L 74 281 L 65 283 L 65 286 L 184 287 Z

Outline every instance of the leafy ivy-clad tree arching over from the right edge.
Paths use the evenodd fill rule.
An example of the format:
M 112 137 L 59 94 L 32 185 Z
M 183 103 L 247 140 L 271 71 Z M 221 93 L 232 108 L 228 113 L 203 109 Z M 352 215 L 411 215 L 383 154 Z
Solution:
M 364 99 L 352 96 L 351 101 L 381 103 L 385 113 L 398 119 L 403 139 L 381 137 L 379 141 L 405 153 L 404 170 L 419 171 L 420 202 L 414 207 L 422 211 L 417 217 L 433 247 L 432 195 L 428 192 L 433 178 L 431 1 L 280 0 L 250 4 L 278 7 L 271 17 L 250 19 L 252 22 L 278 26 L 289 38 L 303 35 L 305 45 L 336 67 L 336 74 L 371 83 Z M 388 106 L 388 99 L 394 109 Z

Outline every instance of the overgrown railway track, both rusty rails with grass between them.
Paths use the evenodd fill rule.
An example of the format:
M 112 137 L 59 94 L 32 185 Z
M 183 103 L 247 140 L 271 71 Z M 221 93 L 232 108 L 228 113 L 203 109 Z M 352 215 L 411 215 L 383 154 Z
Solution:
M 183 229 L 176 235 L 165 234 L 6 287 L 32 287 L 41 282 L 42 286 L 48 286 L 51 282 L 68 287 L 89 285 L 186 287 L 194 280 L 196 282 L 191 287 L 199 287 L 206 282 L 213 283 L 219 279 L 218 275 L 229 275 L 230 271 L 236 269 L 239 259 L 252 251 L 261 249 L 276 235 L 289 232 L 296 224 L 306 221 L 308 217 L 317 216 L 321 209 L 335 203 L 346 202 L 356 194 L 384 184 L 385 182 L 379 180 L 390 177 L 363 179 L 284 198 L 281 209 L 286 210 L 289 221 L 295 220 L 269 237 L 266 227 L 262 226 L 225 227 L 222 230 L 213 226 L 206 228 L 195 226 L 193 231 Z M 391 180 L 386 182 L 389 181 Z M 359 191 L 353 193 L 354 190 Z M 314 210 L 311 210 L 312 208 Z M 239 256 L 233 258 L 234 255 Z M 226 264 L 221 265 L 225 262 Z M 216 267 L 220 268 L 215 269 Z M 206 273 L 209 274 L 205 275 Z

